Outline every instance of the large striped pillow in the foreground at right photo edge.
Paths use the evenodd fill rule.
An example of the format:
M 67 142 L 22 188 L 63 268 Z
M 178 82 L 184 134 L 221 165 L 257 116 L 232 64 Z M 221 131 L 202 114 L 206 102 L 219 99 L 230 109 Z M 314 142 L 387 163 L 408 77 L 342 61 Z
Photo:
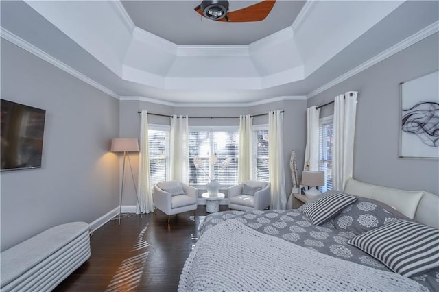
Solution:
M 439 229 L 414 221 L 399 219 L 348 243 L 406 277 L 439 267 Z

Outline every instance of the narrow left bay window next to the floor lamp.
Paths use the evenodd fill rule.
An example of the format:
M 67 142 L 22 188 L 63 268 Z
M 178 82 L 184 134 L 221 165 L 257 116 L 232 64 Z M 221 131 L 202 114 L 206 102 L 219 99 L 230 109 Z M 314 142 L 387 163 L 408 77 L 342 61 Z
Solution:
M 169 127 L 150 125 L 148 129 L 148 154 L 150 156 L 150 182 L 169 178 Z

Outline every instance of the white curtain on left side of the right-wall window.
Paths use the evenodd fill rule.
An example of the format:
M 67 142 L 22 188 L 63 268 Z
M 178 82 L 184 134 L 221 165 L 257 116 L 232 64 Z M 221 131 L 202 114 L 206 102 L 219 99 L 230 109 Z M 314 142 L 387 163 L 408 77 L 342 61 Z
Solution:
M 318 171 L 319 117 L 320 108 L 311 106 L 307 109 L 307 145 L 305 146 L 303 170 Z

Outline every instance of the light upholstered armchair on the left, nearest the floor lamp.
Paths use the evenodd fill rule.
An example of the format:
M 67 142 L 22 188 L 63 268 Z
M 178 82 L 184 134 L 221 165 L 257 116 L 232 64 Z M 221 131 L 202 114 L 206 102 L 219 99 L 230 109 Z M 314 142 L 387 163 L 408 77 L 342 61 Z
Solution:
M 177 180 L 154 184 L 152 197 L 154 206 L 168 215 L 168 224 L 171 215 L 197 209 L 196 188 Z

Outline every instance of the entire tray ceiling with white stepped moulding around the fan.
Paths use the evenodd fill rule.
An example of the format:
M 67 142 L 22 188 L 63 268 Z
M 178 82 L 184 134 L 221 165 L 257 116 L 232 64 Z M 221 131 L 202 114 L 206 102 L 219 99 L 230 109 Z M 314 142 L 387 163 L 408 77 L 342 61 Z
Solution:
M 258 23 L 198 3 L 1 1 L 1 36 L 114 97 L 190 105 L 309 97 L 439 30 L 438 1 L 277 1 Z

